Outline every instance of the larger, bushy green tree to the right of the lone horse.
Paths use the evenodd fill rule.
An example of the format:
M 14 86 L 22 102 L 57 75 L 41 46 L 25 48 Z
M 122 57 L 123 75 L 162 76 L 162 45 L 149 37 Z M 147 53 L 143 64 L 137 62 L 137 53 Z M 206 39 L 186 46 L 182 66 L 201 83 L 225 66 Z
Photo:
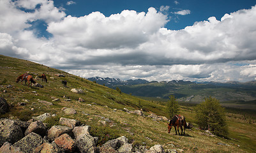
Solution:
M 218 136 L 227 136 L 228 128 L 225 110 L 220 101 L 215 98 L 206 98 L 204 102 L 195 107 L 196 122 L 201 129 L 208 129 Z

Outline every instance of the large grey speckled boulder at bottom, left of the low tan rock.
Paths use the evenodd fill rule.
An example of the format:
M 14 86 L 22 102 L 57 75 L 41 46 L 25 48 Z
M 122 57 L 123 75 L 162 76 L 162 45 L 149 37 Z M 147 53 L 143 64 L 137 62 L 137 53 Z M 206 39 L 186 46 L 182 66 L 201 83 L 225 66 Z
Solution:
M 43 144 L 43 138 L 36 133 L 29 133 L 29 135 L 25 136 L 18 142 L 13 144 L 14 147 L 19 147 L 22 152 L 29 153 L 33 152 L 36 147 Z

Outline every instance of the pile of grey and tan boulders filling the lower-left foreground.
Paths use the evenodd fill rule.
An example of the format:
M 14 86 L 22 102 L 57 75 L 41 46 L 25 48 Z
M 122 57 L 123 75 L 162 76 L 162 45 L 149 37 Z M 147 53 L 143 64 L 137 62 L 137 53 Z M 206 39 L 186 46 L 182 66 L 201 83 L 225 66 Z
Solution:
M 3 98 L 1 98 L 1 108 L 6 108 L 1 109 L 1 113 L 8 110 L 8 105 Z M 69 109 L 64 108 L 64 110 Z M 143 115 L 140 112 L 139 114 Z M 90 135 L 90 126 L 81 124 L 79 120 L 61 117 L 59 119 L 60 126 L 47 128 L 43 121 L 49 117 L 51 117 L 50 113 L 44 113 L 27 122 L 0 119 L 0 153 L 176 152 L 174 149 L 164 150 L 161 145 L 154 145 L 150 149 L 142 145 L 133 146 L 125 136 L 109 140 L 102 146 L 98 146 L 98 138 Z

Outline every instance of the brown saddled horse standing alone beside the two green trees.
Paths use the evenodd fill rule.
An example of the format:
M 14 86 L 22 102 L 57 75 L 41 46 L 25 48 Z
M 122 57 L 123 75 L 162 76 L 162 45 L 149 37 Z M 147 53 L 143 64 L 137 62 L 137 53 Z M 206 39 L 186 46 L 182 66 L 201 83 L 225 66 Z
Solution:
M 179 133 L 179 135 L 185 135 L 186 120 L 183 115 L 174 115 L 174 117 L 172 117 L 172 120 L 170 120 L 170 123 L 168 124 L 168 133 L 170 133 L 170 129 L 172 129 L 172 126 L 174 126 L 175 128 L 176 135 L 177 135 L 177 132 L 179 133 L 179 127 L 181 128 L 181 134 Z M 177 126 L 177 130 L 176 130 L 176 126 Z M 184 133 L 183 133 L 182 127 L 184 127 Z

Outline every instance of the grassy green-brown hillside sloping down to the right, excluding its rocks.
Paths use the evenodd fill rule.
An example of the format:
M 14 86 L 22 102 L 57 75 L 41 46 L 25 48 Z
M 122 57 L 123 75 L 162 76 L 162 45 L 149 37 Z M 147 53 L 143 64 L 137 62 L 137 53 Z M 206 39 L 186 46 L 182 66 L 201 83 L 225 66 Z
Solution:
M 149 110 L 146 115 L 149 115 L 150 112 L 165 115 L 163 113 L 164 106 L 152 101 L 139 99 L 128 94 L 120 94 L 115 90 L 94 84 L 84 78 L 70 75 L 58 69 L 3 55 L 0 55 L 0 70 L 0 85 L 3 85 L 3 87 L 0 87 L 0 96 L 13 105 L 11 112 L 1 117 L 28 120 L 32 116 L 41 115 L 45 112 L 55 113 L 57 116 L 48 121 L 49 123 L 55 121 L 54 123 L 57 124 L 59 117 L 80 120 L 84 124 L 92 126 L 92 135 L 100 136 L 102 142 L 108 140 L 108 138 L 124 135 L 133 140 L 133 144 L 146 144 L 147 147 L 161 144 L 166 149 L 171 149 L 172 147 L 169 144 L 172 143 L 175 145 L 174 149 L 183 149 L 185 152 L 253 152 L 256 149 L 255 125 L 248 124 L 245 120 L 238 120 L 239 118 L 232 116 L 235 115 L 233 113 L 231 113 L 228 122 L 230 125 L 230 137 L 234 139 L 226 140 L 224 138 L 206 136 L 202 134 L 203 131 L 197 128 L 187 130 L 186 136 L 176 136 L 173 135 L 174 129 L 172 129 L 171 134 L 167 133 L 167 122 L 154 121 L 147 117 L 140 117 L 121 111 L 123 108 L 136 110 L 142 105 L 144 110 Z M 16 78 L 26 71 L 34 74 L 38 73 L 39 75 L 45 73 L 49 82 L 37 81 L 39 84 L 44 85 L 44 88 L 30 88 L 20 83 L 15 83 Z M 56 77 L 55 74 L 57 73 L 66 75 L 66 77 Z M 50 77 L 54 77 L 54 79 Z M 67 80 L 68 87 L 63 87 L 61 80 Z M 13 87 L 6 89 L 6 85 L 9 84 Z M 85 92 L 84 94 L 74 94 L 70 92 L 72 88 L 83 89 Z M 7 92 L 3 92 L 4 90 Z M 64 95 L 72 99 L 72 101 L 66 101 L 63 98 Z M 52 101 L 52 98 L 60 98 L 61 101 Z M 85 102 L 78 102 L 78 98 L 85 99 Z M 18 105 L 18 103 L 24 102 L 22 101 L 23 99 L 29 100 L 26 102 L 27 105 Z M 50 101 L 54 105 L 43 105 L 38 102 L 38 99 Z M 64 106 L 75 108 L 77 114 L 64 115 L 63 111 L 61 111 Z M 31 108 L 34 108 L 34 110 L 32 111 Z M 117 110 L 113 108 L 117 108 Z M 190 106 L 183 106 L 181 113 L 188 122 L 194 121 L 193 108 Z M 98 120 L 103 120 L 103 118 L 109 118 L 113 122 L 103 127 L 98 124 Z M 218 142 L 225 143 L 228 146 L 218 145 Z M 237 147 L 238 145 L 240 147 Z

